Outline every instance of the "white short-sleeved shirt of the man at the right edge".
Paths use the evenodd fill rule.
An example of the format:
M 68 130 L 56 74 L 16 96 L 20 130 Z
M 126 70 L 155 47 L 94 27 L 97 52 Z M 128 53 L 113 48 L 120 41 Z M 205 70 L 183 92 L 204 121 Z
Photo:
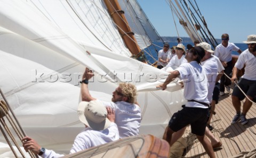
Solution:
M 244 65 L 244 75 L 242 77 L 247 80 L 256 81 L 256 58 L 248 49 L 238 56 L 235 67 L 242 69 Z

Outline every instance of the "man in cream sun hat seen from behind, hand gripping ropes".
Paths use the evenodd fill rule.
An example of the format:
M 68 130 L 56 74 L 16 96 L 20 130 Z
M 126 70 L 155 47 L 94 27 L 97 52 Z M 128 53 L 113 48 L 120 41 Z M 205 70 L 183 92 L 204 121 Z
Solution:
M 114 109 L 106 108 L 97 100 L 83 101 L 79 103 L 77 113 L 79 120 L 86 128 L 76 136 L 70 154 L 119 139 Z M 34 139 L 28 136 L 22 139 L 22 143 L 26 152 L 30 150 L 44 158 L 64 156 L 41 147 Z

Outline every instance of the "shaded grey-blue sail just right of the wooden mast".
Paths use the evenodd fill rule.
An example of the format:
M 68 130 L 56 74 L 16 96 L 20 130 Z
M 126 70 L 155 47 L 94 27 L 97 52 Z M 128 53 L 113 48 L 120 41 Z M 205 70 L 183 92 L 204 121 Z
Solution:
M 162 42 L 136 0 L 119 0 L 118 2 L 142 49 L 150 46 L 151 42 Z

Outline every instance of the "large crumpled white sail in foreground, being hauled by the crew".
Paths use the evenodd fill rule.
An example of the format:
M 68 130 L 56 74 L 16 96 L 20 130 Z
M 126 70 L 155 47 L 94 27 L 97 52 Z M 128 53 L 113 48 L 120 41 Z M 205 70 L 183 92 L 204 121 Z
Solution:
M 110 101 L 119 82 L 135 84 L 142 109 L 141 134 L 162 137 L 171 115 L 185 102 L 180 85 L 171 83 L 167 91 L 157 90 L 155 86 L 164 81 L 166 72 L 125 56 L 121 53 L 125 48 L 112 48 L 119 45 L 117 40 L 110 42 L 95 32 L 81 36 L 80 31 L 71 30 L 66 24 L 79 20 L 50 13 L 57 10 L 66 17 L 61 12 L 67 10 L 63 1 L 47 1 L 52 5 L 43 2 L 31 5 L 5 0 L 0 5 L 0 87 L 26 134 L 41 146 L 69 153 L 75 136 L 84 128 L 77 117 L 77 105 L 81 101 L 79 81 L 89 67 L 95 71 L 89 83 L 95 98 Z M 57 2 L 62 5 L 53 5 Z M 46 17 L 42 8 L 35 7 L 38 5 L 57 17 Z M 61 18 L 66 22 L 57 23 Z M 106 24 L 95 23 L 94 28 Z M 6 146 L 0 144 L 0 157 L 6 156 L 4 151 Z

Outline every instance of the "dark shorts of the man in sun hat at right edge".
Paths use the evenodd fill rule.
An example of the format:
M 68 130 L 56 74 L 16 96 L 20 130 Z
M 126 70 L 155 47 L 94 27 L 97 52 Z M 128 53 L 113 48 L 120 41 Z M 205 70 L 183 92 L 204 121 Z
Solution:
M 256 81 L 240 78 L 238 85 L 246 95 L 251 96 L 253 101 L 256 101 Z M 232 95 L 237 96 L 239 100 L 243 100 L 245 98 L 245 95 L 241 92 L 237 85 L 235 86 Z

